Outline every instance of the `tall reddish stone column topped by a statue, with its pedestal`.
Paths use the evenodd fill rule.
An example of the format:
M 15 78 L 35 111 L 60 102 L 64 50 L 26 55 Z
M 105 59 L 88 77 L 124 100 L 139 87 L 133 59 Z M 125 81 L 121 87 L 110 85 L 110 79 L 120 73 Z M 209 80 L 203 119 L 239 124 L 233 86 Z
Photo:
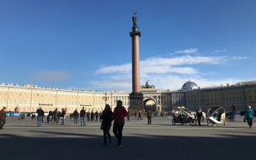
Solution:
M 144 107 L 142 104 L 143 94 L 140 88 L 140 44 L 139 37 L 141 37 L 141 32 L 138 30 L 136 13 L 132 16 L 132 32 L 131 35 L 131 54 L 132 54 L 132 93 L 129 95 L 130 113 L 135 113 L 141 111 L 144 113 Z

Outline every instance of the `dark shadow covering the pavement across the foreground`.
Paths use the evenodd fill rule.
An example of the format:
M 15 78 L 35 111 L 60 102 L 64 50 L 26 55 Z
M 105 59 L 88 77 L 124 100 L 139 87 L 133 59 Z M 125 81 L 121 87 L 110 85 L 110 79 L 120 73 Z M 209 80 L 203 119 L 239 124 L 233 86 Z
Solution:
M 101 146 L 103 136 L 91 134 L 40 132 L 46 136 L 26 137 L 1 134 L 1 159 L 251 159 L 256 138 L 252 136 L 224 135 L 222 137 L 152 136 L 133 134 L 123 137 L 123 147 L 112 144 Z M 112 133 L 112 132 L 111 132 Z M 81 137 L 82 136 L 82 137 Z M 221 136 L 221 135 L 219 135 Z

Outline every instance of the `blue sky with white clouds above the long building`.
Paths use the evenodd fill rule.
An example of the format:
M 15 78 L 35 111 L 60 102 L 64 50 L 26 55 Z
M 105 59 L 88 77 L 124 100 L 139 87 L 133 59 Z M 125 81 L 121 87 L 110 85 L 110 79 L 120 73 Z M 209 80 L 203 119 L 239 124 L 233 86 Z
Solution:
M 255 0 L 0 0 L 0 83 L 131 91 L 135 11 L 141 85 L 255 80 L 255 8 Z

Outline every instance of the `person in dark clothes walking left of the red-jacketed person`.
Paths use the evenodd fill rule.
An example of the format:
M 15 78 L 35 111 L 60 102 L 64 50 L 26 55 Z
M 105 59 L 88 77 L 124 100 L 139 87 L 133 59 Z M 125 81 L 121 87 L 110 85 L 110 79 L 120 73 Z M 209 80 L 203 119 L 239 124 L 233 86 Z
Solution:
M 103 130 L 104 143 L 103 146 L 107 145 L 107 136 L 109 137 L 109 143 L 111 143 L 111 136 L 109 130 L 111 128 L 111 122 L 114 120 L 113 112 L 109 106 L 109 104 L 105 105 L 104 114 L 101 116 L 101 130 Z

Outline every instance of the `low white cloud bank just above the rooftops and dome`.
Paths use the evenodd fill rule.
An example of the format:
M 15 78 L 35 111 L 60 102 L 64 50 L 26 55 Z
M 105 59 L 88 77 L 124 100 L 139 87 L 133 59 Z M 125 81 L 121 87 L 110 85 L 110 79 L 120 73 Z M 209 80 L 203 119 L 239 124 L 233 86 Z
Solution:
M 157 75 L 147 75 L 146 77 L 141 77 L 141 85 L 145 84 L 149 79 L 149 83 L 155 85 L 157 89 L 163 90 L 178 90 L 182 88 L 183 84 L 187 81 L 192 81 L 198 84 L 200 88 L 211 88 L 220 87 L 221 84 L 224 86 L 227 83 L 235 84 L 237 82 L 243 82 L 243 79 L 206 79 L 201 77 L 189 77 L 189 76 L 173 76 L 170 74 L 157 74 Z M 131 77 L 127 79 L 109 79 L 107 81 L 93 81 L 88 82 L 89 86 L 94 89 L 110 89 L 110 90 L 123 90 L 131 91 Z

